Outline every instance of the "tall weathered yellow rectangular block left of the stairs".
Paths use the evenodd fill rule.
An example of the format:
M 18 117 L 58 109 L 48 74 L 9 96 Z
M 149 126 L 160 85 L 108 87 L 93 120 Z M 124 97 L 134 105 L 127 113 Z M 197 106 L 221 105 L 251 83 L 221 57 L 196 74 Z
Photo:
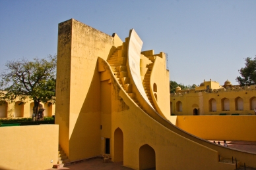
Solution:
M 106 60 L 115 49 L 113 37 L 71 19 L 59 24 L 58 38 L 56 123 L 60 144 L 71 161 L 98 156 L 101 104 L 97 60 L 98 56 Z

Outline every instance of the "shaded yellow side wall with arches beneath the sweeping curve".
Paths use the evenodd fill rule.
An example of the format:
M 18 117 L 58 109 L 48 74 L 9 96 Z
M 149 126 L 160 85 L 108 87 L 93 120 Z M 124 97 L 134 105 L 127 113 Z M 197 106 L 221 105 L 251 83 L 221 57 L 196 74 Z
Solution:
M 156 169 L 234 169 L 218 163 L 218 152 L 170 131 L 137 108 L 123 91 L 119 95 L 123 104 L 117 106 L 125 104 L 129 109 L 112 113 L 112 135 L 117 128 L 123 131 L 123 165 L 139 169 L 139 148 L 148 144 L 156 153 Z

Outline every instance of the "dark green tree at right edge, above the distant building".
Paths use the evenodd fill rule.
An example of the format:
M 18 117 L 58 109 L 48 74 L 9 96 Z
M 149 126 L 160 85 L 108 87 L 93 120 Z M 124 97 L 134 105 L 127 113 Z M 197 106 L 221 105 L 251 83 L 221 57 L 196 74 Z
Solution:
M 238 70 L 241 76 L 236 77 L 236 81 L 243 85 L 255 85 L 256 84 L 256 57 L 245 58 L 245 67 Z

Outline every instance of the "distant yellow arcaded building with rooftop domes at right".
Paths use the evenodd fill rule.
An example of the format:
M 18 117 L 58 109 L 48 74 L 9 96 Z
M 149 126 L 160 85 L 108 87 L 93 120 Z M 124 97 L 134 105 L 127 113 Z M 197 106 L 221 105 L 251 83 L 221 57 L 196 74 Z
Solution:
M 204 81 L 195 89 L 176 87 L 170 96 L 171 112 L 179 115 L 253 115 L 256 85 L 240 87 L 225 81 Z

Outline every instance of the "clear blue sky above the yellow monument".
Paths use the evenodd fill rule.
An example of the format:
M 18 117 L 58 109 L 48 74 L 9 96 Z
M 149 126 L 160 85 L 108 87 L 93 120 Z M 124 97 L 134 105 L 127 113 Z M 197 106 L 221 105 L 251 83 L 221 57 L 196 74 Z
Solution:
M 75 18 L 124 41 L 134 28 L 143 51 L 168 53 L 170 79 L 238 84 L 256 55 L 256 1 L 0 0 L 0 72 L 7 60 L 57 53 L 58 24 Z

